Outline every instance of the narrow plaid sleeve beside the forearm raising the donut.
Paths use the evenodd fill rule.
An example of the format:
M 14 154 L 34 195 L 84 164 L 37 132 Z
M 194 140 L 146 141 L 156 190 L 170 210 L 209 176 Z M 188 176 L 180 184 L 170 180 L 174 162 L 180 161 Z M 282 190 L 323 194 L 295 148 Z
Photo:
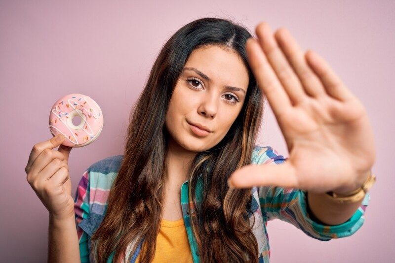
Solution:
M 88 234 L 78 224 L 89 215 L 89 171 L 86 170 L 79 181 L 76 197 L 74 199 L 74 213 L 79 239 L 79 256 L 81 263 L 89 262 Z

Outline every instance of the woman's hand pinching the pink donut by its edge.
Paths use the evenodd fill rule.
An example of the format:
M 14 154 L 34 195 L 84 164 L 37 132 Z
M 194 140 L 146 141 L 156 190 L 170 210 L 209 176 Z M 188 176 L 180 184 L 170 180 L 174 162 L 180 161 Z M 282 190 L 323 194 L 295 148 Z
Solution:
M 50 216 L 58 220 L 74 217 L 68 165 L 72 147 L 61 144 L 63 140 L 64 136 L 59 134 L 35 144 L 25 168 L 30 186 Z M 52 150 L 57 146 L 58 150 Z

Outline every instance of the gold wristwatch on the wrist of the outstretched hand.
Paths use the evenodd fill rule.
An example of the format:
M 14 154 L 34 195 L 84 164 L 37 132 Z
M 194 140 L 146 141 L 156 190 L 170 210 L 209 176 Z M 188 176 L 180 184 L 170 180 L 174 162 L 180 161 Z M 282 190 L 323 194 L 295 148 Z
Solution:
M 373 186 L 373 184 L 375 182 L 376 182 L 376 176 L 374 174 L 370 173 L 370 175 L 368 176 L 366 181 L 358 189 L 356 189 L 352 192 L 349 192 L 349 193 L 342 194 L 341 197 L 339 196 L 339 194 L 336 194 L 332 191 L 326 192 L 326 195 L 330 199 L 332 199 L 333 201 L 338 202 L 338 203 L 357 202 L 365 197 L 367 191 Z

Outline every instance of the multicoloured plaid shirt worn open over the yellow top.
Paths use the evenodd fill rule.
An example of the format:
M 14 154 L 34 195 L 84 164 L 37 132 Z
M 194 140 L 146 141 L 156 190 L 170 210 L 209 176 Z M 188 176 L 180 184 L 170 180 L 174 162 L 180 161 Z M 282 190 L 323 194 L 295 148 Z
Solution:
M 94 262 L 90 252 L 91 240 L 95 230 L 102 222 L 107 205 L 111 185 L 118 174 L 123 156 L 117 155 L 100 160 L 92 164 L 82 175 L 75 196 L 75 218 L 79 238 L 79 252 L 81 262 Z M 278 155 L 270 146 L 256 145 L 252 154 L 251 164 L 281 164 L 286 160 Z M 199 178 L 201 178 L 199 176 Z M 201 181 L 198 181 L 201 182 Z M 197 184 L 197 203 L 201 202 L 201 183 Z M 276 186 L 253 187 L 252 203 L 249 211 L 252 231 L 258 242 L 258 258 L 260 263 L 268 263 L 270 258 L 269 237 L 267 233 L 268 221 L 280 219 L 294 225 L 308 236 L 322 241 L 332 238 L 341 238 L 354 234 L 363 224 L 365 208 L 369 203 L 369 193 L 365 195 L 360 207 L 353 216 L 343 224 L 329 226 L 321 224 L 309 217 L 306 203 L 306 192 L 300 189 L 281 188 Z M 188 180 L 181 186 L 181 205 L 185 228 L 191 248 L 194 263 L 199 262 L 197 243 L 190 225 L 192 202 L 188 203 Z M 255 217 L 255 220 L 254 220 Z M 122 262 L 126 262 L 131 253 L 131 248 L 136 240 L 127 247 Z M 141 249 L 140 242 L 131 258 L 134 263 Z M 112 262 L 115 252 L 110 255 L 107 262 Z

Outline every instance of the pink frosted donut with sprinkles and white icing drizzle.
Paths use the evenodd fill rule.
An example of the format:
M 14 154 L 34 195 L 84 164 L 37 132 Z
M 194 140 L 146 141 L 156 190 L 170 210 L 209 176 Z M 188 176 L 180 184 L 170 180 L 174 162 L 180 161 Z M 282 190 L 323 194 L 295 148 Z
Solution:
M 58 99 L 49 114 L 49 130 L 53 136 L 62 133 L 65 136 L 62 144 L 66 146 L 88 145 L 102 129 L 103 113 L 99 105 L 82 94 L 73 93 Z

